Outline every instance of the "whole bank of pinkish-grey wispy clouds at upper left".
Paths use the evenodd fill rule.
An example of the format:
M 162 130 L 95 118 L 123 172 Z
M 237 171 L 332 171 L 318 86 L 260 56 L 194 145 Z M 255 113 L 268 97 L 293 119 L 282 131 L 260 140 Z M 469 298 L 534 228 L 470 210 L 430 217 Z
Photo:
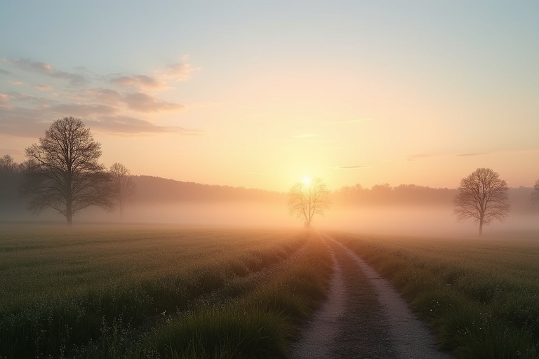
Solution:
M 173 88 L 173 81 L 190 78 L 195 69 L 187 63 L 187 57 L 149 74 L 102 75 L 82 68 L 65 72 L 46 62 L 6 57 L 0 57 L 0 63 L 13 70 L 0 72 L 6 75 L 4 86 L 11 86 L 11 90 L 0 93 L 0 133 L 36 137 L 60 116 L 81 117 L 88 126 L 108 133 L 202 133 L 181 126 L 159 126 L 151 116 L 185 108 L 185 104 L 164 100 L 161 92 Z M 23 72 L 41 75 L 24 77 L 29 94 L 14 87 Z M 71 86 L 65 86 L 64 81 Z M 141 114 L 145 115 L 143 119 L 139 118 Z

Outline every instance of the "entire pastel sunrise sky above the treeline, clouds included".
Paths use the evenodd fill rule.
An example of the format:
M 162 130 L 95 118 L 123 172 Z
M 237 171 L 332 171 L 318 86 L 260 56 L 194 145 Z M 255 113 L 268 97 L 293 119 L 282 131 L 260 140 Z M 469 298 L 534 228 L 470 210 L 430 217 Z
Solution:
M 538 1 L 15 1 L 0 156 L 81 118 L 134 175 L 287 191 L 539 178 Z

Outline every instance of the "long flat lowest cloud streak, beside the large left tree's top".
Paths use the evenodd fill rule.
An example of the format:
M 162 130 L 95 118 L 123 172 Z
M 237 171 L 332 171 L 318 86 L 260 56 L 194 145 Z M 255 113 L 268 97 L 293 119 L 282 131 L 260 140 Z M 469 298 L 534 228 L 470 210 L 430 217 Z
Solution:
M 199 130 L 177 126 L 157 126 L 154 123 L 129 116 L 108 116 L 97 120 L 85 121 L 91 128 L 112 133 L 176 133 L 179 135 L 201 135 Z

